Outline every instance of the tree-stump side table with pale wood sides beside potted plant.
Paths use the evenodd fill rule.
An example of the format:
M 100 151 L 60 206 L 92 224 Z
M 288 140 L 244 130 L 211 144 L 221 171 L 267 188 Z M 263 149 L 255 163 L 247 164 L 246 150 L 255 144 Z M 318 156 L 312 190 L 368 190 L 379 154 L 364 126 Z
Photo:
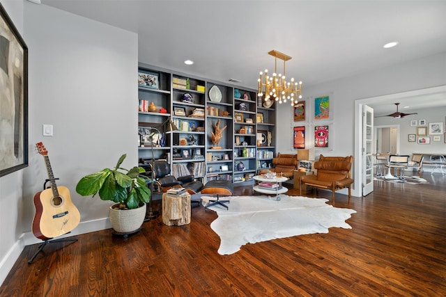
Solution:
M 162 194 L 162 223 L 182 226 L 190 223 L 190 194 L 179 196 Z

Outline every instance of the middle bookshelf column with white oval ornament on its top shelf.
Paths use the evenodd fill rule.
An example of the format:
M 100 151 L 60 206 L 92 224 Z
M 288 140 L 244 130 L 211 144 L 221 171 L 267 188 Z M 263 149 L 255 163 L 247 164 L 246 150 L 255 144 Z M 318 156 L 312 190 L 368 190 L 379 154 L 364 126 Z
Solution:
M 233 88 L 208 82 L 206 90 L 206 182 L 232 182 Z

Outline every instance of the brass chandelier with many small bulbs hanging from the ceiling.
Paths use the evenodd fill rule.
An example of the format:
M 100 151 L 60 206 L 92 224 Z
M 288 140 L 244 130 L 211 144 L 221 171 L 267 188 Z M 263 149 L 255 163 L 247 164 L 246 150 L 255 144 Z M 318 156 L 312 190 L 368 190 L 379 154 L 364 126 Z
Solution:
M 265 70 L 265 74 L 260 72 L 259 92 L 257 95 L 263 97 L 264 100 L 275 100 L 279 103 L 286 103 L 286 100 L 291 101 L 291 106 L 297 104 L 299 99 L 302 98 L 302 81 L 295 82 L 292 78 L 291 81 L 286 81 L 285 77 L 285 63 L 291 60 L 291 56 L 281 53 L 273 49 L 268 52 L 271 56 L 275 57 L 275 68 L 272 77 L 268 76 L 268 70 Z M 284 74 L 277 73 L 277 58 L 284 61 Z

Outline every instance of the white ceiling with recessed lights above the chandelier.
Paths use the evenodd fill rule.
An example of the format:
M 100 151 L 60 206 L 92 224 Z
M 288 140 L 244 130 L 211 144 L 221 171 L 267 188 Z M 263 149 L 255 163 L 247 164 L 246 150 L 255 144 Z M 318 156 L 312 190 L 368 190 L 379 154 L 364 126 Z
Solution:
M 36 0 L 31 0 L 36 1 Z M 287 77 L 312 86 L 381 67 L 446 52 L 446 1 L 171 1 L 41 0 L 138 33 L 139 62 L 170 70 L 236 79 L 256 88 L 259 72 L 274 68 L 268 51 L 292 57 Z M 384 49 L 387 42 L 399 45 Z M 194 65 L 185 65 L 190 59 Z M 282 63 L 278 63 L 282 72 Z M 404 113 L 446 105 L 432 100 L 401 101 Z M 393 104 L 373 106 L 376 115 L 394 112 Z

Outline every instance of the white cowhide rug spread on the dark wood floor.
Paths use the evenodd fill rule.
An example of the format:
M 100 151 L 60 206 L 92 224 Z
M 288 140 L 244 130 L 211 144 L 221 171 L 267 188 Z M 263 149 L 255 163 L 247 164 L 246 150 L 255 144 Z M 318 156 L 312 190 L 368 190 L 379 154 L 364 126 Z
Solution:
M 218 218 L 210 227 L 220 236 L 220 255 L 238 252 L 246 243 L 257 243 L 284 237 L 328 233 L 330 227 L 351 229 L 345 220 L 355 214 L 353 209 L 332 207 L 325 198 L 305 198 L 280 195 L 277 201 L 269 196 L 232 196 L 229 210 L 221 206 Z M 213 197 L 201 196 L 204 205 Z

